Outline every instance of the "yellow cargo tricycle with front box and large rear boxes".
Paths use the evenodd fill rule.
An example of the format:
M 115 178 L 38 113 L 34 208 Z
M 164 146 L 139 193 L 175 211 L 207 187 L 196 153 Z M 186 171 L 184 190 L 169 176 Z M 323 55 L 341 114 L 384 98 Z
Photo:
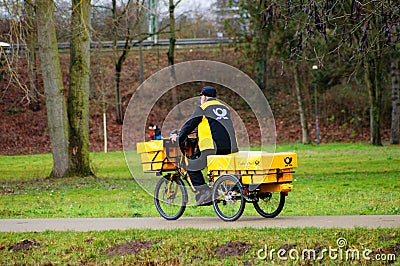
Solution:
M 167 220 L 176 220 L 184 213 L 189 201 L 187 186 L 196 192 L 184 169 L 188 154 L 193 156 L 196 137 L 185 143 L 183 151 L 170 139 L 137 144 L 143 171 L 161 176 L 154 190 L 154 203 Z M 262 217 L 276 217 L 293 189 L 295 167 L 297 155 L 291 152 L 239 151 L 207 156 L 208 186 L 216 214 L 224 221 L 235 221 L 246 203 L 251 203 Z

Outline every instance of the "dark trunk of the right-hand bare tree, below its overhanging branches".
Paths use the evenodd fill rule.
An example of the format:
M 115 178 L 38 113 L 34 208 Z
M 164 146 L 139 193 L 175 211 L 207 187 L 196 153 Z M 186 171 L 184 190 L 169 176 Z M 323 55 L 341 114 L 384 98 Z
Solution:
M 381 139 L 381 107 L 382 107 L 382 68 L 380 57 L 365 59 L 365 83 L 369 93 L 370 104 L 370 142 L 382 146 Z

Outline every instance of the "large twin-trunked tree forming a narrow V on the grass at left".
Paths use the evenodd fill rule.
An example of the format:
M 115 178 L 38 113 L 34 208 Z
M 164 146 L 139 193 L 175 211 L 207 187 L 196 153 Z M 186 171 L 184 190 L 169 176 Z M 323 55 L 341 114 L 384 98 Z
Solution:
M 52 176 L 93 175 L 89 161 L 90 1 L 73 0 L 68 109 L 62 83 L 53 0 L 37 0 L 38 46 L 46 95 Z

